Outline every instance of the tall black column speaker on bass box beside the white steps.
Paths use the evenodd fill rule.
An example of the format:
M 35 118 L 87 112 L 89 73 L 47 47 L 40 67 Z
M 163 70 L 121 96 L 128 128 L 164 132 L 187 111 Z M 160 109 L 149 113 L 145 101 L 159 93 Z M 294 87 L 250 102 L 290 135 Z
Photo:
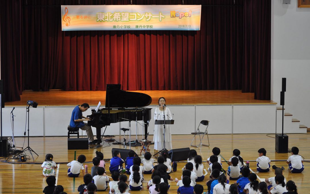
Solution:
M 280 105 L 282 105 L 282 134 L 276 134 L 276 152 L 288 153 L 289 137 L 283 133 L 284 129 L 284 92 L 286 92 L 286 78 L 282 78 L 282 91 L 280 95 Z

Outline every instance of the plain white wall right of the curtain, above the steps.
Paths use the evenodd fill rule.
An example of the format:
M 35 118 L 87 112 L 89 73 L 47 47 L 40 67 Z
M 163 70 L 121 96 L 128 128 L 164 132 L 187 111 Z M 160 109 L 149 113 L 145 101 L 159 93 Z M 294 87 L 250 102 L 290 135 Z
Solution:
M 280 105 L 286 77 L 285 112 L 310 127 L 310 8 L 298 8 L 297 0 L 271 3 L 271 100 Z

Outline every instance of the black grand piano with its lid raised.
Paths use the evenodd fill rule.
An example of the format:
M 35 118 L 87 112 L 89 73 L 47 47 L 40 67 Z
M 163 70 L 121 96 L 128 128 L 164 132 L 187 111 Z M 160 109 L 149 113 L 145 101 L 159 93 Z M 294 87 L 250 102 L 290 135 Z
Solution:
M 97 144 L 101 141 L 101 128 L 128 120 L 143 121 L 144 134 L 148 132 L 148 121 L 151 120 L 151 108 L 142 108 L 150 105 L 152 98 L 144 93 L 128 92 L 121 89 L 121 84 L 107 84 L 105 95 L 105 108 L 97 112 L 91 110 L 88 115 L 88 125 L 96 128 Z

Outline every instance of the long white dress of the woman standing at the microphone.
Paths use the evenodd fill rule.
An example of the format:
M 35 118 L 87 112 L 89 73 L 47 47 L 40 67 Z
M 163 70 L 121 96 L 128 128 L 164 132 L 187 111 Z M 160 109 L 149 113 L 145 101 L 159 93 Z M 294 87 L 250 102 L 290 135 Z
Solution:
M 166 107 L 166 110 L 165 110 L 165 119 L 166 120 L 172 119 L 172 115 L 171 115 L 168 107 Z M 155 109 L 154 120 L 164 120 L 164 111 L 160 111 L 158 107 Z M 156 124 L 155 129 L 154 129 L 154 137 L 153 137 L 154 149 L 155 150 L 161 150 L 164 148 L 163 147 L 163 145 L 164 145 L 163 133 L 164 133 L 164 126 Z M 166 149 L 171 150 L 172 149 L 172 143 L 171 143 L 171 127 L 170 127 L 170 124 L 166 124 L 165 137 L 166 137 L 166 139 L 165 139 Z

